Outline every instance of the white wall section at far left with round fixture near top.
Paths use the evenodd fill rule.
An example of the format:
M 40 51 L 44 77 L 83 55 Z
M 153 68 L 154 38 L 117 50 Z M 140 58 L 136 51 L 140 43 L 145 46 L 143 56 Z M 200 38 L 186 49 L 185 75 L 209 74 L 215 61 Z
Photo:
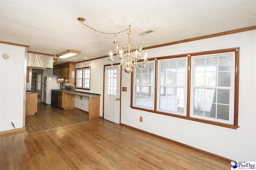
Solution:
M 23 127 L 26 47 L 0 43 L 0 131 Z M 10 59 L 2 58 L 3 54 Z

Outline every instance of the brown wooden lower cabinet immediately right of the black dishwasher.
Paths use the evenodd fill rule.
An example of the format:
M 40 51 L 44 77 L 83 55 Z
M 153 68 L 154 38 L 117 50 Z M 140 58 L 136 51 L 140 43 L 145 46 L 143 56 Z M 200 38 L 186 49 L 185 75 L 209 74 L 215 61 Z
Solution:
M 75 95 L 68 94 L 65 92 L 58 93 L 58 107 L 63 109 L 74 109 L 75 108 Z

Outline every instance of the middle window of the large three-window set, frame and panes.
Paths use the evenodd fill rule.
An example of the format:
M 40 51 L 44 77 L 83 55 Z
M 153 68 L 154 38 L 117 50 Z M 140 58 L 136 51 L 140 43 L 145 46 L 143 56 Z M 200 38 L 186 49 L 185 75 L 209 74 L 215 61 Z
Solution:
M 160 60 L 158 66 L 157 110 L 185 115 L 187 59 Z

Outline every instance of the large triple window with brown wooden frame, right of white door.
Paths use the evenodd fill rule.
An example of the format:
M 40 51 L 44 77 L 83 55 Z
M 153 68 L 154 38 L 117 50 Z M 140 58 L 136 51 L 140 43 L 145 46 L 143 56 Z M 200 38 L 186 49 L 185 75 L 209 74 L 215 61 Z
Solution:
M 239 48 L 158 57 L 132 75 L 134 109 L 238 127 Z

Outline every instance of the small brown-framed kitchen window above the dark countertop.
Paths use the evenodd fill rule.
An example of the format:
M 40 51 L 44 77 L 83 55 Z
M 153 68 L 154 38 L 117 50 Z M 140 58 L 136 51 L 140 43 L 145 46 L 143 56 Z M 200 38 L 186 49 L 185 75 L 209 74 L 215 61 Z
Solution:
M 90 90 L 90 67 L 76 68 L 76 88 Z

